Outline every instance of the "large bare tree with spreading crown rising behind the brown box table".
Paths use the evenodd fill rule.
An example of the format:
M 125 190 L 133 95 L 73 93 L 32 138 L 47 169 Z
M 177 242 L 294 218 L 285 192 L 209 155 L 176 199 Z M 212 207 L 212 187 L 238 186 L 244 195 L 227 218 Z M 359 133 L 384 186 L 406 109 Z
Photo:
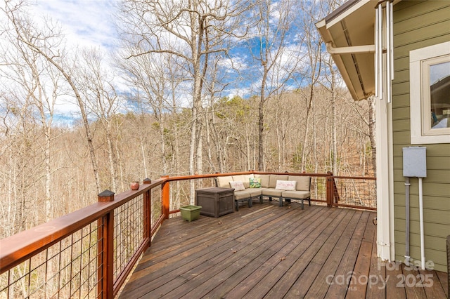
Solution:
M 127 24 L 127 27 L 122 27 L 124 34 L 130 44 L 139 44 L 139 49 L 143 49 L 132 52 L 130 58 L 148 53 L 169 53 L 180 58 L 178 62 L 190 74 L 191 174 L 203 171 L 201 165 L 195 167 L 195 157 L 198 157 L 199 163 L 201 152 L 198 152 L 198 131 L 208 55 L 227 51 L 221 48 L 221 40 L 236 32 L 237 18 L 246 6 L 248 4 L 245 3 L 211 3 L 203 0 L 129 0 L 123 4 L 123 21 Z

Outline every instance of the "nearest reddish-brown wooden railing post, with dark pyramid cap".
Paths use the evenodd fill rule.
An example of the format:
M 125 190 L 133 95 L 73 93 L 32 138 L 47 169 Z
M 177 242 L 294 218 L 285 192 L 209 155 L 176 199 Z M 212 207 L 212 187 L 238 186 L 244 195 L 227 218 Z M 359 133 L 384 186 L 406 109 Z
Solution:
M 114 192 L 105 190 L 98 201 L 114 201 Z M 114 211 L 97 220 L 97 298 L 114 298 Z

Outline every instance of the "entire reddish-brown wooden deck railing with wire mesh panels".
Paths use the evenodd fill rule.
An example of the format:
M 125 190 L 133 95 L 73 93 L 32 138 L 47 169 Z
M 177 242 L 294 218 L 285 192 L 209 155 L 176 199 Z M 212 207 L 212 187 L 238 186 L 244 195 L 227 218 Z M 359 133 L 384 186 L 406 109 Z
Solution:
M 164 176 L 136 191 L 105 190 L 96 204 L 0 240 L 0 298 L 113 298 L 158 227 L 189 203 L 180 197 L 192 200 L 193 187 L 211 187 L 217 176 L 249 173 L 257 172 Z M 278 174 L 310 175 L 319 204 L 376 209 L 375 178 Z

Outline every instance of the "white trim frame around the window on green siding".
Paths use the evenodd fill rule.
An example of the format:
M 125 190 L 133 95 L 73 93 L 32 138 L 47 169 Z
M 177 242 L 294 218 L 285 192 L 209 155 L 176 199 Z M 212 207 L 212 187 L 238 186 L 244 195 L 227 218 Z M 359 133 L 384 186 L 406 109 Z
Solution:
M 424 135 L 423 123 L 423 71 L 422 61 L 450 54 L 450 41 L 428 46 L 409 52 L 409 97 L 411 110 L 411 145 L 450 143 L 450 132 L 447 134 Z M 442 132 L 442 131 L 440 131 Z M 438 131 L 436 132 L 438 133 Z

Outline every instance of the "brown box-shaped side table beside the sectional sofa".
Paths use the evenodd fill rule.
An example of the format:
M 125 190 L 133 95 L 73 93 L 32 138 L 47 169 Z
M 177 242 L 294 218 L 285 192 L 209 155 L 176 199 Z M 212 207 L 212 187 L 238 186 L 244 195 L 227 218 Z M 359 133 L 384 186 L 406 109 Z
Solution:
M 234 212 L 234 189 L 210 187 L 195 190 L 195 201 L 202 206 L 200 214 L 218 218 Z

